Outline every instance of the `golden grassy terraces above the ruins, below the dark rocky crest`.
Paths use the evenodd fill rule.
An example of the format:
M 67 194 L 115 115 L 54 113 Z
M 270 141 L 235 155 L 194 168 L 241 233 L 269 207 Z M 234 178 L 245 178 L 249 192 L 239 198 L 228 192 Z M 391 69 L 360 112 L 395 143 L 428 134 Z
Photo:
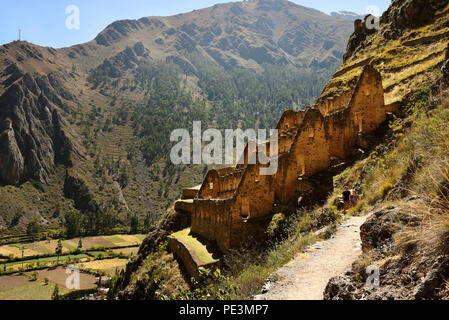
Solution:
M 445 61 L 449 43 L 449 28 L 444 26 L 449 10 L 432 26 L 405 33 L 397 40 L 383 39 L 377 34 L 367 39 L 367 45 L 356 53 L 328 82 L 320 100 L 344 94 L 359 77 L 365 65 L 378 69 L 383 78 L 386 104 L 402 100 L 413 88 L 423 87 L 439 72 Z M 417 36 L 419 35 L 419 36 Z

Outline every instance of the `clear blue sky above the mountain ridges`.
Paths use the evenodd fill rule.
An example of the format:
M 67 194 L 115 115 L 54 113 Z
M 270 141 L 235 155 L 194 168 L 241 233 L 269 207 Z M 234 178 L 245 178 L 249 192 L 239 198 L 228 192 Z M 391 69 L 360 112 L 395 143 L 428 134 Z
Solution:
M 0 12 L 0 44 L 18 38 L 55 48 L 87 42 L 108 24 L 120 19 L 145 16 L 167 16 L 206 8 L 227 0 L 2 0 Z M 391 0 L 293 0 L 293 2 L 325 13 L 347 10 L 365 13 L 369 6 L 386 10 Z M 66 8 L 80 10 L 80 28 L 66 27 Z

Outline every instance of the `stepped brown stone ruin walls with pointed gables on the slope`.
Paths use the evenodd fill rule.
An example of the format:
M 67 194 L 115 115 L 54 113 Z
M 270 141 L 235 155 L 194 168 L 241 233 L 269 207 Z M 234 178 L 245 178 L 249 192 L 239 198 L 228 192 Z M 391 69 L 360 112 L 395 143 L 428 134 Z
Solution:
M 286 111 L 277 125 L 276 174 L 261 175 L 263 165 L 248 164 L 260 145 L 245 148 L 243 164 L 209 171 L 192 205 L 192 232 L 215 241 L 224 252 L 238 247 L 254 236 L 255 221 L 270 217 L 275 204 L 289 205 L 320 190 L 314 187 L 319 181 L 309 178 L 327 170 L 333 160 L 353 156 L 355 147 L 363 147 L 358 146 L 360 138 L 386 121 L 386 111 L 381 76 L 370 65 L 351 92 L 305 111 Z M 269 151 L 269 140 L 265 147 Z

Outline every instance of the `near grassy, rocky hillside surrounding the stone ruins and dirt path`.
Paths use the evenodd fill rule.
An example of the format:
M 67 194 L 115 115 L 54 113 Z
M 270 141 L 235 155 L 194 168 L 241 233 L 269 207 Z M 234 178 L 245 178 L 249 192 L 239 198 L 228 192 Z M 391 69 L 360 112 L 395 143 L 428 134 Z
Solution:
M 379 30 L 356 21 L 344 63 L 317 105 L 331 112 L 352 101 L 353 88 L 371 65 L 381 73 L 386 108 L 393 113 L 377 141 L 360 146 L 358 157 L 338 165 L 334 191 L 324 206 L 298 208 L 290 216 L 283 211 L 287 208 L 277 209 L 260 232 L 260 246 L 248 241 L 221 256 L 221 272 L 208 275 L 202 270 L 214 280 L 207 284 L 162 267 L 162 262 L 176 261 L 167 255 L 167 236 L 190 225 L 188 215 L 170 210 L 118 279 L 115 294 L 124 299 L 252 298 L 276 269 L 300 259 L 298 254 L 309 244 L 335 231 L 344 218 L 339 196 L 348 186 L 362 199 L 348 215 L 370 215 L 361 227 L 364 254 L 352 270 L 330 280 L 323 297 L 446 299 L 448 21 L 447 1 L 423 0 L 393 1 Z M 364 93 L 373 95 L 369 89 Z M 370 265 L 380 270 L 380 288 L 374 290 L 365 286 Z M 182 286 L 171 286 L 174 282 Z

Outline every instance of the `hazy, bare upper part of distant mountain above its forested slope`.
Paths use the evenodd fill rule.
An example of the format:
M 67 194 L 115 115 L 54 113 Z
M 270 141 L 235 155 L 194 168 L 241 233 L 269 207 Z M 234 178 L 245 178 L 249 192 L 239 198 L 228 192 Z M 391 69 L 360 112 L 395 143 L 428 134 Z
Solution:
M 352 28 L 350 21 L 290 1 L 251 0 L 176 16 L 116 21 L 95 42 L 100 51 L 111 46 L 121 51 L 142 42 L 150 56 L 159 58 L 206 55 L 225 69 L 257 69 L 263 63 L 326 68 L 341 59 Z

